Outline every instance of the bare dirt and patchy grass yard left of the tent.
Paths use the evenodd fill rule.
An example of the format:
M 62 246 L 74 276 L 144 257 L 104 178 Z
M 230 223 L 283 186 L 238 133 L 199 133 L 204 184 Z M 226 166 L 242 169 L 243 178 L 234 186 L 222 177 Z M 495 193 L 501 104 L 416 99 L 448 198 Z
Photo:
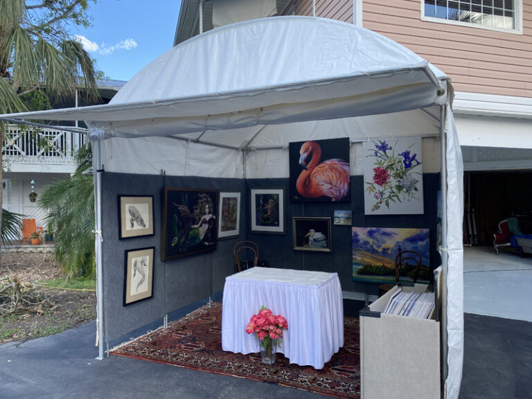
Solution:
M 23 300 L 9 313 L 11 296 L 0 293 L 0 344 L 57 334 L 96 319 L 96 292 L 35 285 L 62 277 L 51 253 L 1 254 L 0 288 L 19 282 Z

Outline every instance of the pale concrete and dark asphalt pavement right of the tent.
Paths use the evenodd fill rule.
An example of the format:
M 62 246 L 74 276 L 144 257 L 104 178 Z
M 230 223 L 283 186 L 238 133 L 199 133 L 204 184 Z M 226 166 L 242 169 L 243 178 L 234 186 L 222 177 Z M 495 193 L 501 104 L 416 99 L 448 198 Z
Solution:
M 465 247 L 463 292 L 459 399 L 532 398 L 532 257 Z

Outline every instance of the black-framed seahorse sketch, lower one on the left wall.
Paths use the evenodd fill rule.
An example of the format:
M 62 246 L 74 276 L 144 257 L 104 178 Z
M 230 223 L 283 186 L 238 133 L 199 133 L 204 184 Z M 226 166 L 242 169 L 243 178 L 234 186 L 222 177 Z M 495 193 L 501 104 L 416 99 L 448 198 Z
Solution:
M 153 296 L 154 249 L 125 251 L 124 306 Z

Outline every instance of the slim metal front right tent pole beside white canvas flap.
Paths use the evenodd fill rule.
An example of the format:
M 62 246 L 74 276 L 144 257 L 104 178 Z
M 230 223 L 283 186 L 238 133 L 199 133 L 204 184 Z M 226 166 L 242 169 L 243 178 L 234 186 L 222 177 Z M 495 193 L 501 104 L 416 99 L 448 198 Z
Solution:
M 447 134 L 445 134 L 445 106 L 440 107 L 440 147 L 441 147 L 441 379 L 442 388 L 447 380 Z

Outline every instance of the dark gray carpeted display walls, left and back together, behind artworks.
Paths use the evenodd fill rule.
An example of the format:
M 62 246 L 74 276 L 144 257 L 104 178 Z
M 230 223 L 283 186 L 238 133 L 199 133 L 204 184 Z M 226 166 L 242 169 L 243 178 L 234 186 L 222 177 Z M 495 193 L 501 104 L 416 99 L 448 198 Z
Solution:
M 351 227 L 332 223 L 332 252 L 295 251 L 292 243 L 292 217 L 333 218 L 335 210 L 353 211 L 353 226 L 428 228 L 431 241 L 431 265 L 441 262 L 436 250 L 436 197 L 438 173 L 423 175 L 425 213 L 423 215 L 364 215 L 364 179 L 351 176 L 351 202 L 292 203 L 288 198 L 288 179 L 210 179 L 102 174 L 103 281 L 105 296 L 105 337 L 107 340 L 135 330 L 195 301 L 205 299 L 224 288 L 225 278 L 234 273 L 233 246 L 239 240 L 253 240 L 260 248 L 259 259 L 270 267 L 337 272 L 342 290 L 376 294 L 378 284 L 353 281 L 351 263 Z M 163 187 L 215 189 L 240 192 L 240 236 L 218 240 L 217 249 L 161 261 L 161 217 Z M 284 188 L 285 233 L 251 232 L 251 188 Z M 118 239 L 118 195 L 154 196 L 154 236 Z M 218 213 L 218 211 L 217 211 Z M 123 306 L 125 251 L 155 247 L 153 296 Z

